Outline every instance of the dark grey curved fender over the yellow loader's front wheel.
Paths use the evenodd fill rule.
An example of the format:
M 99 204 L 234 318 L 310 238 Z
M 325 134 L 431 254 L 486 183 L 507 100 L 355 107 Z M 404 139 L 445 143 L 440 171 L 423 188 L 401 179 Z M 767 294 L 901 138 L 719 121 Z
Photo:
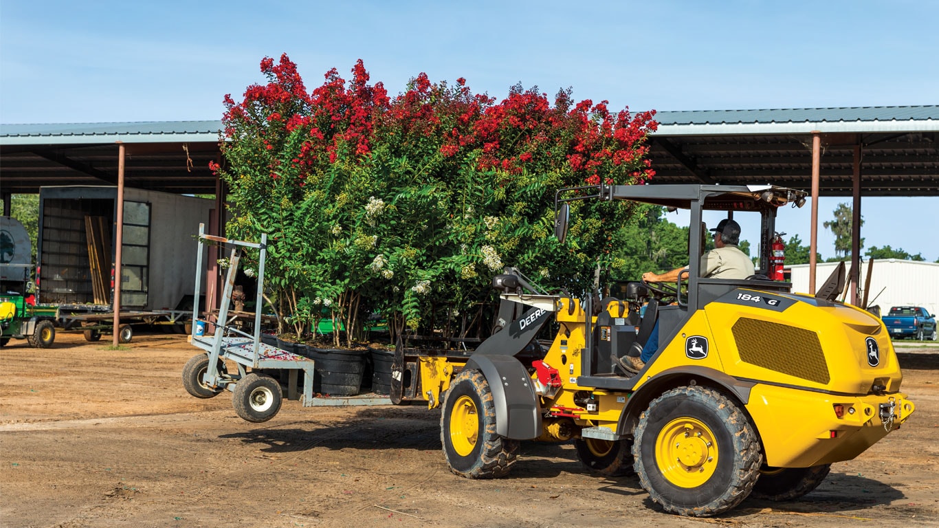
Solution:
M 504 332 L 504 331 L 503 331 Z M 541 436 L 541 410 L 534 394 L 531 375 L 512 356 L 480 354 L 469 356 L 463 367 L 483 373 L 492 392 L 496 410 L 496 432 L 514 440 L 531 440 Z

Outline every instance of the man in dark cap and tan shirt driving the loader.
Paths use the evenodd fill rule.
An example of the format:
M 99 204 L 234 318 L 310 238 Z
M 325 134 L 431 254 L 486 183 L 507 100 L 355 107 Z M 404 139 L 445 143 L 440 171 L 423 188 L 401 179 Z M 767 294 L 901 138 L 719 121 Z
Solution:
M 740 243 L 740 225 L 730 218 L 721 220 L 714 229 L 715 249 L 705 253 L 700 260 L 701 277 L 711 279 L 746 279 L 753 274 L 753 261 L 746 253 L 740 251 L 737 244 Z M 673 283 L 678 281 L 681 272 L 688 267 L 675 268 L 670 272 L 655 274 L 653 272 L 642 273 L 643 282 L 652 283 Z M 655 314 L 646 314 L 643 317 L 655 317 Z M 619 358 L 619 363 L 628 372 L 639 373 L 645 367 L 645 364 L 652 359 L 655 351 L 658 350 L 658 320 L 655 320 L 655 326 L 649 339 L 642 346 L 642 353 L 639 357 L 624 355 Z

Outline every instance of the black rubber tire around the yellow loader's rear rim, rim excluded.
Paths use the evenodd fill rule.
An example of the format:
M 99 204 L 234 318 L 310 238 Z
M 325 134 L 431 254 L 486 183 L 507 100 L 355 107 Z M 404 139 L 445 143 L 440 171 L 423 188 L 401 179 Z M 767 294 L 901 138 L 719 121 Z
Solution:
M 642 462 L 641 439 L 649 425 L 649 416 L 659 413 L 655 408 L 672 398 L 681 400 L 694 398 L 699 403 L 705 403 L 713 408 L 712 410 L 721 422 L 730 427 L 733 445 L 728 453 L 721 452 L 720 454 L 721 456 L 731 455 L 737 458 L 732 475 L 733 482 L 728 484 L 727 489 L 724 489 L 719 497 L 703 505 L 685 506 L 670 502 L 659 490 L 653 488 L 649 474 Z M 662 396 L 658 396 L 650 402 L 647 410 L 639 416 L 639 426 L 636 427 L 634 436 L 636 439 L 633 445 L 633 456 L 636 459 L 634 469 L 636 474 L 639 475 L 639 484 L 649 492 L 650 498 L 656 504 L 661 505 L 665 511 L 670 513 L 685 517 L 713 517 L 724 513 L 747 498 L 760 476 L 762 451 L 759 437 L 756 434 L 756 427 L 752 425 L 746 412 L 741 410 L 728 396 L 710 387 L 677 387 Z M 654 449 L 654 445 L 648 446 L 647 449 Z M 692 492 L 689 490 L 689 493 Z

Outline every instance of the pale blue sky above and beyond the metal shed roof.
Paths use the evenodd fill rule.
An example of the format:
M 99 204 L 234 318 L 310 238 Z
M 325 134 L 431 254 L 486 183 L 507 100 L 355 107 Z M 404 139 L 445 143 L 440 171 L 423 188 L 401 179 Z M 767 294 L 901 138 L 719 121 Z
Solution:
M 393 93 L 424 71 L 495 97 L 572 86 L 634 111 L 936 104 L 937 20 L 939 2 L 903 0 L 0 0 L 0 123 L 218 119 L 224 94 L 282 53 L 308 87 L 362 58 Z M 825 257 L 821 223 L 846 200 L 820 200 Z M 867 247 L 939 258 L 939 198 L 861 210 Z M 808 243 L 808 216 L 785 215 L 783 230 Z

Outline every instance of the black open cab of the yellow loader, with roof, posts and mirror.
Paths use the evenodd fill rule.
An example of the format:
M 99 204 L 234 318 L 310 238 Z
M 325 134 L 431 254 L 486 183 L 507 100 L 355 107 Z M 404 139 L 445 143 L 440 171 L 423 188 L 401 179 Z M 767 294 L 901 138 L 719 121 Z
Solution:
M 556 234 L 559 239 L 566 232 L 567 211 L 562 207 L 563 193 L 559 191 L 559 214 L 556 220 Z M 780 207 L 802 207 L 806 193 L 770 185 L 762 186 L 725 186 L 725 185 L 622 185 L 597 186 L 597 194 L 578 196 L 572 199 L 596 197 L 601 200 L 628 200 L 668 208 L 686 210 L 689 215 L 688 268 L 676 283 L 670 286 L 677 290 L 674 303 L 646 304 L 645 313 L 638 320 L 631 319 L 633 335 L 627 347 L 641 347 L 644 343 L 643 330 L 651 329 L 654 320 L 659 323 L 659 349 L 664 349 L 685 325 L 685 322 L 706 304 L 730 293 L 739 287 L 758 288 L 766 291 L 790 292 L 789 282 L 773 281 L 768 278 L 769 262 L 773 236 L 776 230 L 776 214 Z M 731 218 L 742 227 L 741 240 L 749 241 L 750 256 L 757 257 L 755 272 L 747 279 L 720 279 L 701 277 L 700 256 L 708 247 L 714 233 L 705 230 L 704 225 L 716 226 L 723 218 Z M 713 245 L 711 246 L 713 247 Z M 637 277 L 638 279 L 638 277 Z M 636 283 L 641 284 L 641 283 Z M 651 297 L 654 298 L 654 295 Z M 615 321 L 615 313 L 610 313 L 607 306 L 601 306 L 595 322 L 588 321 L 593 328 L 587 329 L 588 349 L 596 349 L 592 354 L 585 354 L 582 372 L 589 377 L 611 377 L 614 372 L 608 362 L 608 335 L 600 336 L 597 329 L 605 327 L 615 329 L 617 325 L 608 324 L 607 318 Z M 606 314 L 606 315 L 605 315 Z M 648 334 L 646 334 L 648 335 Z M 616 337 L 616 334 L 613 334 Z M 629 338 L 621 340 L 630 341 Z M 593 346 L 596 344 L 596 346 Z M 602 346 L 601 346 L 602 344 Z M 623 345 L 621 345 L 622 347 Z M 623 355 L 624 350 L 610 353 Z M 621 387 L 621 381 L 597 379 L 591 381 L 594 386 L 608 388 Z M 628 382 L 627 382 L 628 384 Z

